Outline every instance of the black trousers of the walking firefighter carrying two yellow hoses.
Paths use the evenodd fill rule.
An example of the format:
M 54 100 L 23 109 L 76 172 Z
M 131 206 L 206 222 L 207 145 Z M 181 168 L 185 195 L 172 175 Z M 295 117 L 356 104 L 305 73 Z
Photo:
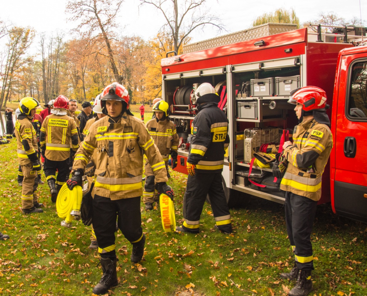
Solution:
M 116 219 L 124 237 L 130 243 L 139 242 L 143 237 L 140 196 L 111 200 L 94 195 L 92 223 L 101 257 L 116 258 Z

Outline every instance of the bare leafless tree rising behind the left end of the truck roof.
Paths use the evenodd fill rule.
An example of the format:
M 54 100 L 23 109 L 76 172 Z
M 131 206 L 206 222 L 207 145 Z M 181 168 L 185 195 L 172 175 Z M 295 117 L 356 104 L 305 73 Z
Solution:
M 219 31 L 224 29 L 220 18 L 204 9 L 206 0 L 140 0 L 140 2 L 140 5 L 151 4 L 162 12 L 166 21 L 162 30 L 168 30 L 172 35 L 173 50 L 176 52 L 197 28 L 211 25 L 217 27 Z

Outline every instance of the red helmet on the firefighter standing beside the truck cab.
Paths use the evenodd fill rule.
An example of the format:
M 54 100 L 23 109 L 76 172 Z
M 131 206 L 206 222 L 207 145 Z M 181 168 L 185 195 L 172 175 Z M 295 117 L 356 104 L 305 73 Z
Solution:
M 301 104 L 302 110 L 312 111 L 326 108 L 326 92 L 317 86 L 305 86 L 290 93 L 290 104 Z

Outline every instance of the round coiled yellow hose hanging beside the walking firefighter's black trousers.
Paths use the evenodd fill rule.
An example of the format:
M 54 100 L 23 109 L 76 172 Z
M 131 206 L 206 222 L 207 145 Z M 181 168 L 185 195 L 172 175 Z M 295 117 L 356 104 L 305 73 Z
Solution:
M 80 218 L 83 191 L 82 186 L 75 186 L 69 190 L 66 183 L 62 185 L 56 200 L 57 215 L 65 219 L 62 226 L 70 227 L 74 219 Z

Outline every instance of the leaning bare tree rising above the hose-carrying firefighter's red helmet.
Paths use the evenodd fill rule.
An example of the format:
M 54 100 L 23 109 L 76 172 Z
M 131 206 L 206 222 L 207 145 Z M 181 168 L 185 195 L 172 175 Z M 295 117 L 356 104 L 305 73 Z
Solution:
M 83 32 L 83 28 L 86 28 L 88 35 L 92 35 L 96 31 L 99 32 L 98 35 L 102 35 L 107 46 L 112 72 L 115 80 L 119 83 L 122 82 L 123 75 L 119 74 L 116 66 L 111 46 L 111 31 L 113 28 L 117 28 L 115 18 L 122 2 L 123 0 L 69 0 L 66 6 L 66 12 L 73 15 L 70 20 L 76 18 L 81 21 L 77 28 L 79 32 Z

